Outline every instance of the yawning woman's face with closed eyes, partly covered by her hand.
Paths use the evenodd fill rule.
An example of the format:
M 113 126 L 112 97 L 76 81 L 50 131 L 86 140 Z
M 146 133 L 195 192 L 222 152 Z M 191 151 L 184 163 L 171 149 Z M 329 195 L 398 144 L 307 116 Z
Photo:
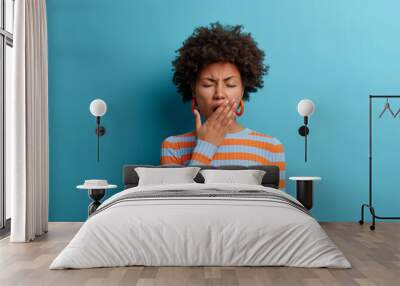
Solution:
M 200 113 L 208 118 L 227 99 L 235 99 L 239 106 L 243 92 L 242 78 L 237 67 L 228 62 L 217 62 L 200 71 L 193 96 Z

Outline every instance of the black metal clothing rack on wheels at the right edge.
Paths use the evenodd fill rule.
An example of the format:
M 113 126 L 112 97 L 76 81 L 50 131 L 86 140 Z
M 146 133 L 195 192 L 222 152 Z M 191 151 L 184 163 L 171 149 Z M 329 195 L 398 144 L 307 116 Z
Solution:
M 389 99 L 389 98 L 400 98 L 400 95 L 370 95 L 369 96 L 369 201 L 368 204 L 362 204 L 361 206 L 361 219 L 359 224 L 364 224 L 364 208 L 369 208 L 372 216 L 372 225 L 370 229 L 375 229 L 375 219 L 400 219 L 400 217 L 383 217 L 378 216 L 375 213 L 375 209 L 372 205 L 372 101 L 374 99 Z

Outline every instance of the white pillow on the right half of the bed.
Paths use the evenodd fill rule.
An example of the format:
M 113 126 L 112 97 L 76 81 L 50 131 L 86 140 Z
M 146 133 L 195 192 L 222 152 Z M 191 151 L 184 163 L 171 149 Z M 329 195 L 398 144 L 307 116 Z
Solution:
M 247 185 L 261 185 L 265 175 L 262 170 L 201 170 L 204 183 L 234 183 Z

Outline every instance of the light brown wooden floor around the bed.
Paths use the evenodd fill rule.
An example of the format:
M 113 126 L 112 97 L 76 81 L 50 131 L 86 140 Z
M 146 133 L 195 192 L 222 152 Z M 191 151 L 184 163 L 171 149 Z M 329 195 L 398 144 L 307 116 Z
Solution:
M 32 243 L 0 241 L 0 285 L 400 285 L 400 223 L 323 223 L 353 268 L 118 267 L 48 270 L 81 223 L 50 223 Z

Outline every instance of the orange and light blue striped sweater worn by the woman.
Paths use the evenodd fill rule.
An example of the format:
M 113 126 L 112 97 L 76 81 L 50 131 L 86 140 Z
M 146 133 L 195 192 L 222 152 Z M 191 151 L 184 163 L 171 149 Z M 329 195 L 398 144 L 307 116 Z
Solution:
M 282 143 L 249 128 L 227 133 L 220 146 L 197 139 L 195 132 L 167 137 L 161 145 L 161 165 L 275 165 L 279 188 L 285 188 L 285 153 Z

